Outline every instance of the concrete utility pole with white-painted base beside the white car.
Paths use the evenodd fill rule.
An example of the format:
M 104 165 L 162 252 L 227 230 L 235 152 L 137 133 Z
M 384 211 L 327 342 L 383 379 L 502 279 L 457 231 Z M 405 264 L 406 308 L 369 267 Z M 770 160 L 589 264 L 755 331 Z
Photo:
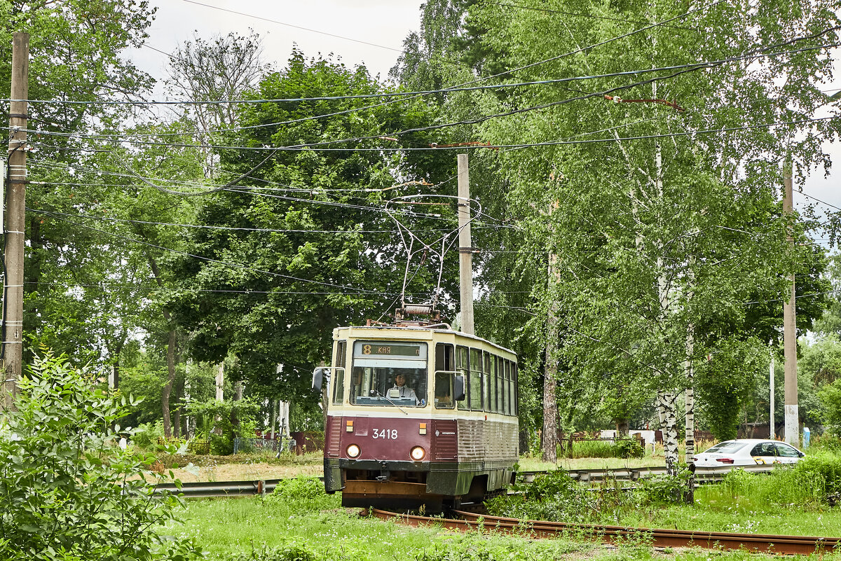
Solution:
M 791 216 L 793 210 L 791 197 L 791 161 L 785 163 L 783 170 L 784 196 L 783 213 L 786 217 Z M 791 227 L 785 236 L 791 247 L 794 247 L 794 238 L 791 236 Z M 795 313 L 795 286 L 794 273 L 789 275 L 791 291 L 789 299 L 783 305 L 783 339 L 785 349 L 785 442 L 800 444 L 800 425 L 797 412 L 797 332 Z

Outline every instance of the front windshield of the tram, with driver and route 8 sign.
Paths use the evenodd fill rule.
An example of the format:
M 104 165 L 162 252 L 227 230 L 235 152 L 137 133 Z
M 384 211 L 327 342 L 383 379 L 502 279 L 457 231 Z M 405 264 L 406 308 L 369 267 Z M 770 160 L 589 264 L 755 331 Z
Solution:
M 353 343 L 351 403 L 370 406 L 426 406 L 426 343 Z

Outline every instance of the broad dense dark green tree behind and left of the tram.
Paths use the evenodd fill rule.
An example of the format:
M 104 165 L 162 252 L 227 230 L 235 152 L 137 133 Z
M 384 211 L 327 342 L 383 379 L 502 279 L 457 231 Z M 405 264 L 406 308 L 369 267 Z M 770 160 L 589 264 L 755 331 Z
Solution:
M 226 173 L 218 181 L 225 184 L 203 197 L 198 211 L 199 223 L 214 228 L 193 232 L 191 256 L 175 264 L 182 291 L 172 307 L 190 333 L 193 358 L 234 354 L 249 383 L 301 398 L 312 365 L 327 354 L 332 328 L 391 312 L 405 261 L 383 202 L 417 193 L 421 180 L 435 181 L 426 172 L 439 156 L 378 151 L 430 144 L 420 132 L 399 143 L 389 137 L 426 123 L 430 109 L 423 103 L 367 107 L 370 100 L 350 97 L 382 91 L 362 67 L 307 60 L 294 51 L 283 71 L 250 94 L 349 97 L 242 110 L 246 128 L 227 139 L 256 149 L 220 152 Z M 313 145 L 294 148 L 307 144 Z M 277 148 L 260 150 L 267 147 Z M 419 219 L 427 229 L 447 223 Z M 408 291 L 428 294 L 435 280 L 431 270 L 419 270 Z

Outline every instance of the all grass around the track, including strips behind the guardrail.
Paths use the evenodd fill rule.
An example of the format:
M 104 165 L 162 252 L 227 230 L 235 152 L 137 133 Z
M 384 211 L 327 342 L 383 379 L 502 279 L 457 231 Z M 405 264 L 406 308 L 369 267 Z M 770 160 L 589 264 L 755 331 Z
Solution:
M 290 474 L 320 474 L 317 454 L 293 461 L 270 462 L 251 458 L 241 469 L 289 469 Z M 291 460 L 291 459 L 289 459 Z M 663 465 L 661 454 L 643 459 L 562 459 L 542 464 L 521 459 L 522 470 Z M 260 466 L 256 468 L 256 466 Z M 203 468 L 209 466 L 201 466 Z M 776 480 L 774 480 L 774 477 Z M 787 478 L 787 479 L 786 479 Z M 243 477 L 241 479 L 251 479 Z M 717 532 L 753 532 L 841 537 L 838 508 L 815 500 L 807 481 L 792 470 L 780 474 L 741 474 L 722 485 L 696 491 L 696 506 L 650 505 L 637 502 L 627 508 L 602 506 L 590 513 L 590 522 L 629 527 L 695 529 Z M 222 479 L 220 479 L 222 480 Z M 773 481 L 772 481 L 773 480 Z M 805 481 L 805 482 L 804 482 Z M 769 485 L 770 484 L 770 485 Z M 630 539 L 619 548 L 589 542 L 582 537 L 530 540 L 496 536 L 491 532 L 462 534 L 442 527 L 412 528 L 394 522 L 361 518 L 358 509 L 341 508 L 341 495 L 325 495 L 317 480 L 296 480 L 281 485 L 265 498 L 188 501 L 182 511 L 185 523 L 166 533 L 193 537 L 216 561 L 759 561 L 770 556 L 707 549 L 653 550 Z M 810 494 L 811 493 L 811 494 Z M 841 561 L 841 553 L 825 554 L 827 561 Z

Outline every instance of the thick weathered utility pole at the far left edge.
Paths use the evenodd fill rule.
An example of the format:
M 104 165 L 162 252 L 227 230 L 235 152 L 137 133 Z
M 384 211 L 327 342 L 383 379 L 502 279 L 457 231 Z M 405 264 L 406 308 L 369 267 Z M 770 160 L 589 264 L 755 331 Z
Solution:
M 24 354 L 24 208 L 26 207 L 26 122 L 29 104 L 29 34 L 12 37 L 12 99 L 9 109 L 8 213 L 4 251 L 6 260 L 3 301 L 3 396 L 0 408 L 13 408 L 23 370 Z

